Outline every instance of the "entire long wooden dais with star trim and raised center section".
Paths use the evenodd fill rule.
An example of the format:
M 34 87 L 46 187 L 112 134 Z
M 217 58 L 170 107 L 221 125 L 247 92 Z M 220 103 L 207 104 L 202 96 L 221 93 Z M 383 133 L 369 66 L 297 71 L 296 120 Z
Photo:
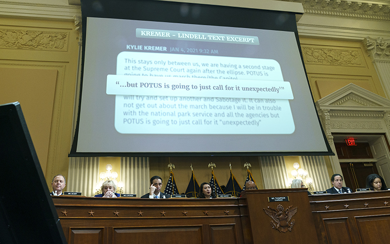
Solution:
M 287 199 L 269 202 L 269 197 Z M 299 188 L 251 190 L 238 199 L 59 196 L 53 201 L 69 244 L 382 244 L 390 240 L 390 191 L 308 196 L 305 188 Z M 264 209 L 278 205 L 283 209 L 277 216 L 266 214 Z M 286 210 L 294 207 L 296 213 L 289 219 Z M 284 232 L 280 226 L 287 226 L 286 222 L 292 227 Z

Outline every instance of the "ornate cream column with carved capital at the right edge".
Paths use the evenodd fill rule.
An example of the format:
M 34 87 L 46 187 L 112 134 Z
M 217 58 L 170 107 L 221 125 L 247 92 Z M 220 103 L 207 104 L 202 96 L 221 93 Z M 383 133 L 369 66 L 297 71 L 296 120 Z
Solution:
M 363 43 L 372 59 L 386 98 L 390 99 L 390 39 L 366 37 Z

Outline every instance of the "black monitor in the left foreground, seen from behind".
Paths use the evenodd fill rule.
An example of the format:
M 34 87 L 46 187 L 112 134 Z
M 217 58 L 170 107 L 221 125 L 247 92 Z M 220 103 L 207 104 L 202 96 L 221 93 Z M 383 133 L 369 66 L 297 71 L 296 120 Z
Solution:
M 0 105 L 0 243 L 67 243 L 20 103 Z

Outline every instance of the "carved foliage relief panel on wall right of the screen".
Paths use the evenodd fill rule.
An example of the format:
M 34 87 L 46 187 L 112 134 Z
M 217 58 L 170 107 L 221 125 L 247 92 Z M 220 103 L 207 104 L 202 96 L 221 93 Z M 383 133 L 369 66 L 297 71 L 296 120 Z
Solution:
M 351 49 L 302 47 L 305 63 L 342 66 L 364 66 L 359 51 Z

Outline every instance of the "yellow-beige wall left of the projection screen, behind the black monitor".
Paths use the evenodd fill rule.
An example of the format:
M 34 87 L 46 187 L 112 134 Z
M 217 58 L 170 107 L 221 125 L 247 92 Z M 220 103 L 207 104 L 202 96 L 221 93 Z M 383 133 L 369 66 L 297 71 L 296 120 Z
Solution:
M 0 103 L 19 101 L 49 183 L 67 175 L 78 63 L 73 21 L 1 18 Z

